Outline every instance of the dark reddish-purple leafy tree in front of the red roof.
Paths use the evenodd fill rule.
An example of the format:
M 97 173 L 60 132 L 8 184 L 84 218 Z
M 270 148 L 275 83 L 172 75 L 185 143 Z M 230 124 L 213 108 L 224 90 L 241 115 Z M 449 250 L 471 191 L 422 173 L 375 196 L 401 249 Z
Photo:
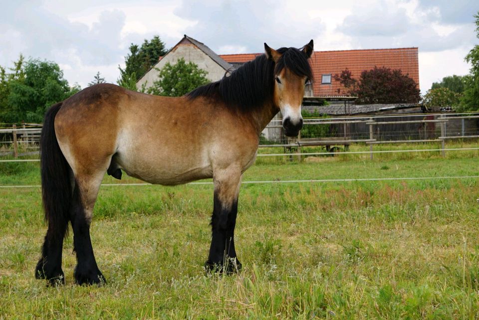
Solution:
M 417 103 L 420 100 L 416 81 L 399 69 L 375 66 L 361 72 L 357 86 L 350 91 L 358 104 Z

